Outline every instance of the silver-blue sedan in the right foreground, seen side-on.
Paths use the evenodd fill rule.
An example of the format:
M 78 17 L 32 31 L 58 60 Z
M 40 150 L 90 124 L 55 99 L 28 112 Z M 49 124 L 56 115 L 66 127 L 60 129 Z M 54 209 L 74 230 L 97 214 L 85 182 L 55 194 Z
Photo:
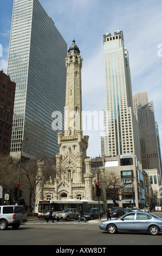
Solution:
M 117 231 L 146 231 L 158 235 L 162 231 L 162 218 L 148 212 L 129 212 L 118 219 L 103 221 L 99 227 L 109 234 Z

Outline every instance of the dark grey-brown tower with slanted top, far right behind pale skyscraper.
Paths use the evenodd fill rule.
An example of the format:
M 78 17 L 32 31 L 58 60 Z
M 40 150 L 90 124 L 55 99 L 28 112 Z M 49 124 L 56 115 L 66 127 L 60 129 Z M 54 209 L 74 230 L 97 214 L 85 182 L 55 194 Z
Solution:
M 161 179 L 157 131 L 152 101 L 138 109 L 138 124 L 142 168 L 157 169 Z

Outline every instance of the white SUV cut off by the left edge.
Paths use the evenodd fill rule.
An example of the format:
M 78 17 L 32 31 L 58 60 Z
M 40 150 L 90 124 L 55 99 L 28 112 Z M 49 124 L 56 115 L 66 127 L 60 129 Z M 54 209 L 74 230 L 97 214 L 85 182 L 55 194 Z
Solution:
M 24 222 L 27 222 L 27 212 L 22 205 L 0 205 L 0 230 L 9 226 L 17 229 Z

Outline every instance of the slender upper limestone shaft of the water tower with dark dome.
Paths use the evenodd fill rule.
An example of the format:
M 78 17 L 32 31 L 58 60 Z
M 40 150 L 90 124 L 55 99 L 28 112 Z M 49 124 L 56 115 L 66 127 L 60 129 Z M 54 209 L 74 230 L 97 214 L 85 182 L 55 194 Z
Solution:
M 76 135 L 82 130 L 82 95 L 81 95 L 81 68 L 82 58 L 79 47 L 73 44 L 69 47 L 66 58 L 67 87 L 66 112 L 64 122 L 64 135 Z

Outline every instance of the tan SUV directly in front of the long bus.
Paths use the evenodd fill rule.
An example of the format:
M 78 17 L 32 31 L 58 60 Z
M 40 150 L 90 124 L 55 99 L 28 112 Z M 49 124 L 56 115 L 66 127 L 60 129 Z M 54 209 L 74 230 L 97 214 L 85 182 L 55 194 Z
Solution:
M 60 220 L 72 220 L 75 219 L 77 220 L 79 216 L 79 210 L 76 208 L 71 208 L 71 209 L 63 209 L 61 212 L 59 212 L 59 214 L 56 214 L 56 221 L 60 221 Z

